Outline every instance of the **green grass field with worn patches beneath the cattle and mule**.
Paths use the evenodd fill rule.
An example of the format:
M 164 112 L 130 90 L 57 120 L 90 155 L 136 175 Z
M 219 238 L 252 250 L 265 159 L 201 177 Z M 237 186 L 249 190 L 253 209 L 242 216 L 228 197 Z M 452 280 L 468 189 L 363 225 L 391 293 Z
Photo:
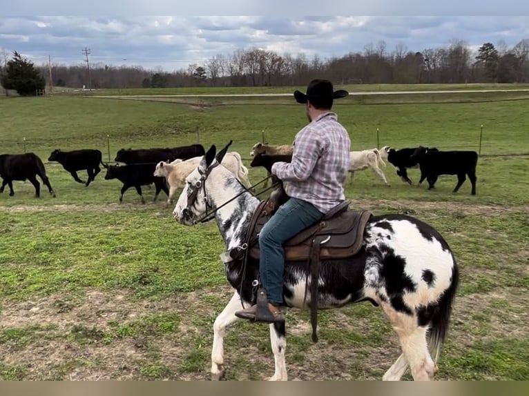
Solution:
M 392 88 L 409 90 L 381 90 Z M 468 181 L 453 194 L 455 177 L 441 177 L 433 191 L 407 186 L 391 166 L 384 171 L 392 186 L 365 170 L 346 192 L 359 208 L 429 222 L 454 250 L 461 287 L 437 378 L 527 379 L 529 103 L 514 92 L 472 95 L 445 97 L 452 103 L 349 97 L 335 110 L 355 150 L 376 147 L 376 128 L 380 146 L 478 150 L 483 124 L 476 196 Z M 23 152 L 25 137 L 57 191 L 35 199 L 28 182 L 15 182 L 14 197 L 0 195 L 0 379 L 208 379 L 213 320 L 231 296 L 216 226 L 176 224 L 164 196 L 148 201 L 153 189 L 144 188 L 145 205 L 132 190 L 118 204 L 119 183 L 104 171 L 85 188 L 47 158 L 55 148 L 99 148 L 106 160 L 107 135 L 113 159 L 122 147 L 194 143 L 197 132 L 206 148 L 233 139 L 247 158 L 262 130 L 269 143 L 291 143 L 306 123 L 302 106 L 288 98 L 186 104 L 57 95 L 0 99 L 0 114 L 0 153 Z M 263 176 L 250 170 L 252 181 Z M 308 313 L 287 314 L 291 379 L 380 379 L 398 356 L 378 308 L 319 315 L 320 342 L 312 344 Z M 273 371 L 267 326 L 237 324 L 225 349 L 228 379 Z

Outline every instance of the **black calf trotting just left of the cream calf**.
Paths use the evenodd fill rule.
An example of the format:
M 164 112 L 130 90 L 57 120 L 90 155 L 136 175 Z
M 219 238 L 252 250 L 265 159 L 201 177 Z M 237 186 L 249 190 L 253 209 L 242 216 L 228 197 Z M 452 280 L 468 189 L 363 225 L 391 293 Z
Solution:
M 142 186 L 154 183 L 156 187 L 156 193 L 153 201 L 156 201 L 160 190 L 164 190 L 165 194 L 169 197 L 169 188 L 164 177 L 156 177 L 153 175 L 156 164 L 130 164 L 130 165 L 107 165 L 103 164 L 106 168 L 105 180 L 118 179 L 123 183 L 121 195 L 119 195 L 119 202 L 123 201 L 123 195 L 126 190 L 131 187 L 136 188 L 137 193 L 142 197 L 142 204 L 145 204 L 145 200 L 142 195 Z

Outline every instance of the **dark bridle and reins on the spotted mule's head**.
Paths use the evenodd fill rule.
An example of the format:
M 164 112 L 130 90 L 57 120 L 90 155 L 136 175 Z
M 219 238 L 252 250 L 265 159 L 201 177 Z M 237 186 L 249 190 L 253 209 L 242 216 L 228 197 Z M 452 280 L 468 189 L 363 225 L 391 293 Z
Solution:
M 270 175 L 270 176 L 265 177 L 264 179 L 258 181 L 258 183 L 256 183 L 256 184 L 253 184 L 249 188 L 244 186 L 244 184 L 242 184 L 237 179 L 237 181 L 244 188 L 244 190 L 242 190 L 242 192 L 239 192 L 237 195 L 235 195 L 235 197 L 233 197 L 233 198 L 229 199 L 228 201 L 224 202 L 224 204 L 222 204 L 221 206 L 218 206 L 217 208 L 213 209 L 213 206 L 211 206 L 211 204 L 209 204 L 209 201 L 207 199 L 206 179 L 209 177 L 209 174 L 211 173 L 211 170 L 213 170 L 214 168 L 216 168 L 219 165 L 220 164 L 218 163 L 218 161 L 215 161 L 215 163 L 213 163 L 210 166 L 208 166 L 208 168 L 206 168 L 206 170 L 204 172 L 202 172 L 200 170 L 200 168 L 197 168 L 198 172 L 200 173 L 200 179 L 198 181 L 196 181 L 195 184 L 189 184 L 188 185 L 187 206 L 186 206 L 186 208 L 184 209 L 184 212 L 183 212 L 184 217 L 186 215 L 188 215 L 189 217 L 191 217 L 191 219 L 193 219 L 194 215 L 193 215 L 193 211 L 191 209 L 196 204 L 196 201 L 197 201 L 197 198 L 198 198 L 198 193 L 200 192 L 201 188 L 202 188 L 202 191 L 204 192 L 204 202 L 206 204 L 206 213 L 204 214 L 204 216 L 202 216 L 202 217 L 200 217 L 198 219 L 194 219 L 193 220 L 193 225 L 199 224 L 199 223 L 206 223 L 207 221 L 210 221 L 211 219 L 213 219 L 215 217 L 215 213 L 217 212 L 217 210 L 219 210 L 223 206 L 226 206 L 231 201 L 234 201 L 235 199 L 237 199 L 238 197 L 243 195 L 245 192 L 249 192 L 251 195 L 253 195 L 253 197 L 258 197 L 259 195 L 263 194 L 264 192 L 267 192 L 268 190 L 271 190 L 272 188 L 276 188 L 276 186 L 278 184 L 278 183 L 273 183 L 273 184 L 271 184 L 271 186 L 269 186 L 267 188 L 264 188 L 264 190 L 258 192 L 258 194 L 253 194 L 253 192 L 251 192 L 251 189 L 255 188 L 259 184 L 264 183 L 264 181 L 267 181 L 272 176 Z

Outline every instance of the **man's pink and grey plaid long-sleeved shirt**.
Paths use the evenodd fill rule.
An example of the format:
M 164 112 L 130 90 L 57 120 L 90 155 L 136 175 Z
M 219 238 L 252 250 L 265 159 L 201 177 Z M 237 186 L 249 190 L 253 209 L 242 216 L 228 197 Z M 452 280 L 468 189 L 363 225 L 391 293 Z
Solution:
M 310 202 L 326 213 L 345 200 L 351 140 L 334 112 L 326 112 L 298 132 L 290 164 L 276 162 L 273 175 L 288 181 L 290 197 Z

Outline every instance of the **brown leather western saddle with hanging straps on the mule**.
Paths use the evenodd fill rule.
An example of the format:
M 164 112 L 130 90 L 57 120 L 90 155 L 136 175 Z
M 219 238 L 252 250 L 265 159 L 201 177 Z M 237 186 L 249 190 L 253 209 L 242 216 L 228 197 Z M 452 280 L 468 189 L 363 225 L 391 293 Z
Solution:
M 253 259 L 260 258 L 259 232 L 273 213 L 276 212 L 280 206 L 279 202 L 286 201 L 282 194 L 285 194 L 284 190 L 276 193 L 276 195 L 272 192 L 270 198 L 261 201 L 256 211 L 253 212 L 247 234 L 248 248 L 244 252 L 244 257 L 241 257 L 244 261 L 246 261 L 248 255 Z M 311 279 L 318 279 L 320 260 L 345 259 L 356 255 L 362 248 L 364 229 L 372 217 L 372 212 L 369 210 L 348 210 L 350 203 L 351 201 L 348 200 L 343 201 L 327 212 L 317 224 L 298 232 L 297 235 L 286 241 L 283 244 L 285 260 L 307 261 L 307 270 L 309 270 Z M 309 273 L 307 273 L 307 278 Z M 262 294 L 262 292 L 258 294 Z M 316 334 L 317 295 L 318 282 L 311 281 L 311 301 L 309 304 L 311 308 L 312 340 L 314 342 L 318 341 L 318 335 Z M 307 289 L 305 289 L 306 298 Z

